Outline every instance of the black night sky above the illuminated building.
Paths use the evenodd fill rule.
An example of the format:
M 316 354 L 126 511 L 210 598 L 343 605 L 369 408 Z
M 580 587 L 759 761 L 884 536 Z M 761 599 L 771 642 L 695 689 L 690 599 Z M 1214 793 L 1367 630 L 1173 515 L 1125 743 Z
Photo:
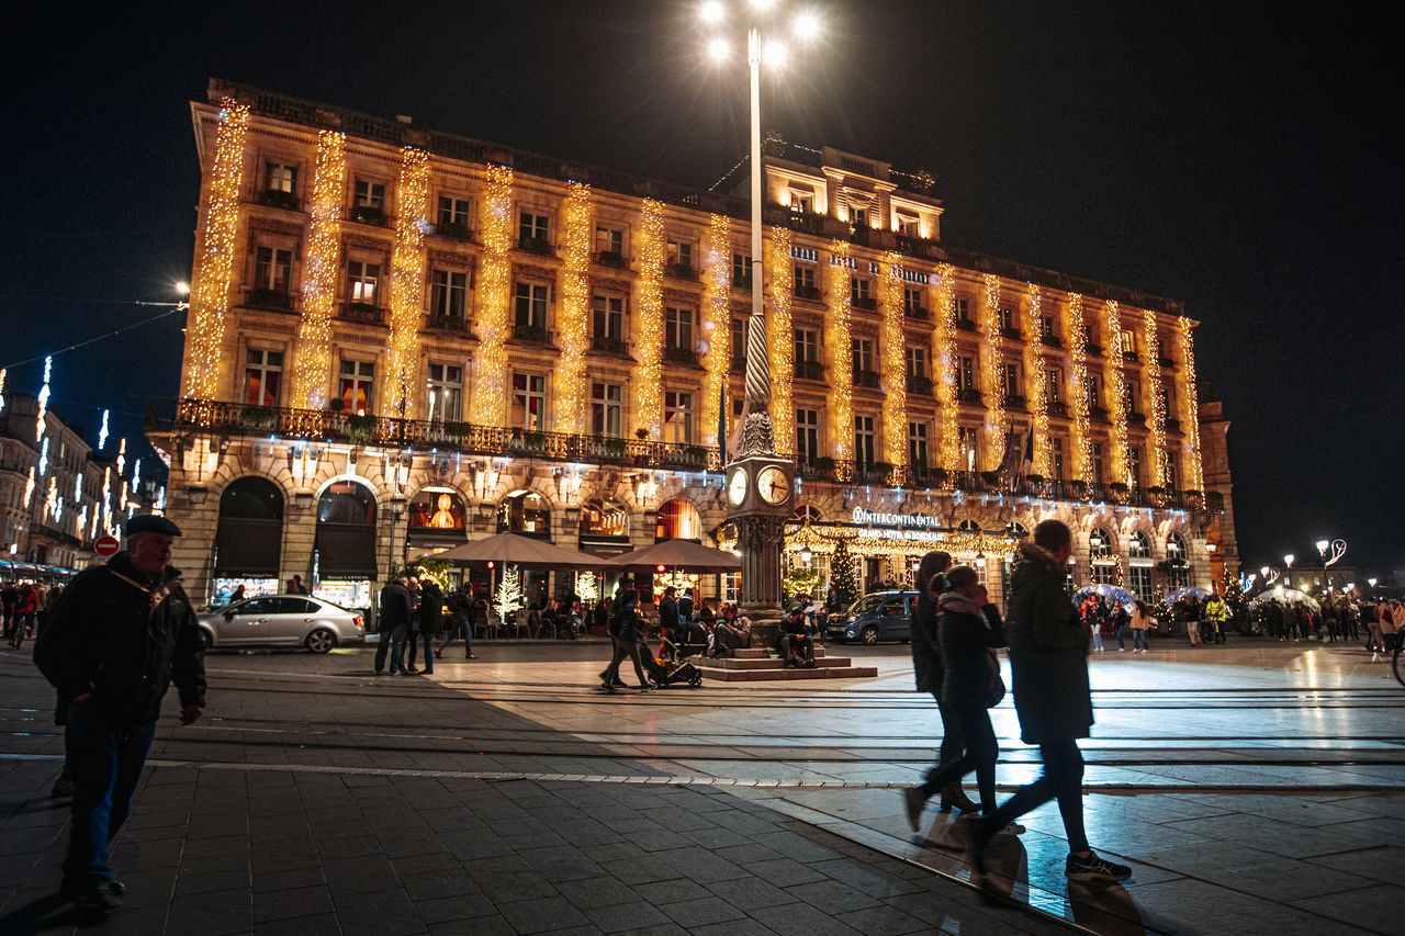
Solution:
M 30 7 L 0 66 L 0 365 L 157 313 L 131 302 L 188 277 L 187 103 L 212 74 L 711 184 L 745 152 L 745 63 L 704 62 L 694 7 Z M 1392 15 L 1235 7 L 823 3 L 825 45 L 767 84 L 766 124 L 926 167 L 953 246 L 1183 299 L 1232 420 L 1246 562 L 1326 535 L 1347 564 L 1405 565 Z M 177 392 L 178 319 L 56 358 L 59 412 L 96 427 L 111 406 L 138 434 L 143 401 Z M 10 386 L 37 391 L 41 367 Z

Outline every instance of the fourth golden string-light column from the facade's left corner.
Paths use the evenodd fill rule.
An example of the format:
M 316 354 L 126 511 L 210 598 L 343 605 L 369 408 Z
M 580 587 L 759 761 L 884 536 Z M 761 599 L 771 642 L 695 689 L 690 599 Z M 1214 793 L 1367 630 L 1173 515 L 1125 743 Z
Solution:
M 513 170 L 488 166 L 483 194 L 483 285 L 478 297 L 478 385 L 472 422 L 500 426 L 507 415 L 507 309 L 511 298 Z

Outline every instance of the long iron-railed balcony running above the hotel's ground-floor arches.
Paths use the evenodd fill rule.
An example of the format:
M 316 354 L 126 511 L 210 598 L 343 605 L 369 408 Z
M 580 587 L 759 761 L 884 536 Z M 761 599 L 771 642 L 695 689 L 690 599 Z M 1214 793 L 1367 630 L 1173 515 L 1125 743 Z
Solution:
M 163 417 L 157 410 L 170 415 Z M 194 434 L 249 437 L 270 436 L 287 441 L 379 446 L 396 450 L 434 450 L 483 457 L 528 457 L 554 461 L 636 465 L 677 471 L 721 471 L 715 447 L 665 443 L 610 436 L 531 431 L 506 426 L 478 426 L 465 422 L 353 416 L 340 412 L 249 406 L 200 399 L 149 402 L 146 430 L 173 437 L 169 444 Z M 0 471 L 27 471 L 24 465 L 0 465 Z M 797 474 L 806 482 L 840 485 L 885 485 L 961 490 L 971 495 L 1013 496 L 1082 503 L 1114 503 L 1134 507 L 1211 512 L 1222 510 L 1215 492 L 1137 488 L 1121 483 L 1014 478 L 993 471 L 948 472 L 939 467 L 895 467 L 885 462 L 846 461 L 829 457 L 801 458 Z

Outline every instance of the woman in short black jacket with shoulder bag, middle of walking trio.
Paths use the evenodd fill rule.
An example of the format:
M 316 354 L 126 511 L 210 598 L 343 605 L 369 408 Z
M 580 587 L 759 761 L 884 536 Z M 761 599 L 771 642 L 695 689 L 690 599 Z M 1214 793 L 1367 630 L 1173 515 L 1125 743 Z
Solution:
M 940 587 L 940 582 L 937 587 Z M 916 832 L 922 810 L 932 794 L 975 772 L 981 808 L 995 811 L 995 759 L 999 753 L 988 708 L 1000 701 L 995 648 L 1005 645 L 1000 613 L 991 604 L 975 571 L 958 566 L 946 575 L 950 589 L 937 597 L 937 644 L 941 649 L 941 707 L 961 727 L 964 752 L 960 759 L 943 759 L 922 786 L 903 790 L 908 822 Z M 932 586 L 929 586 L 930 589 Z M 1023 829 L 1013 829 L 1023 831 Z

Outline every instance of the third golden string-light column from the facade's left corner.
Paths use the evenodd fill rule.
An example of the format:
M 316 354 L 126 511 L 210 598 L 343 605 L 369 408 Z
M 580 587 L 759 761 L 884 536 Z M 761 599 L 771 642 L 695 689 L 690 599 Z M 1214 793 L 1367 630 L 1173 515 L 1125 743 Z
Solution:
M 391 412 L 400 419 L 412 419 L 419 385 L 420 315 L 424 309 L 424 230 L 430 223 L 430 155 L 423 149 L 405 146 L 400 150 L 395 204 L 388 391 Z

